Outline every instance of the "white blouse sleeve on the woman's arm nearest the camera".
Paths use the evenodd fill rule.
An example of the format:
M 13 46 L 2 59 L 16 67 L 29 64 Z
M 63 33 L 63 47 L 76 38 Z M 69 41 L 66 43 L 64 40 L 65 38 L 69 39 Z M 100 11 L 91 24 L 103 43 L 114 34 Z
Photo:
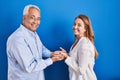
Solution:
M 88 44 L 82 43 L 79 47 L 77 53 L 77 61 L 73 57 L 68 57 L 65 62 L 71 67 L 75 72 L 80 75 L 83 75 L 88 68 L 89 58 L 90 58 L 90 48 Z

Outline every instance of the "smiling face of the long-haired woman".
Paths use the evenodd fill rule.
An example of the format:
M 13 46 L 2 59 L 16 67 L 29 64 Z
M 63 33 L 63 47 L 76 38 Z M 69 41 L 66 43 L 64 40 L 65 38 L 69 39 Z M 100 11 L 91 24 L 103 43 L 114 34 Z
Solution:
M 78 38 L 84 36 L 85 33 L 85 25 L 84 22 L 80 19 L 77 18 L 74 22 L 73 25 L 73 31 L 74 31 L 74 35 L 76 35 Z

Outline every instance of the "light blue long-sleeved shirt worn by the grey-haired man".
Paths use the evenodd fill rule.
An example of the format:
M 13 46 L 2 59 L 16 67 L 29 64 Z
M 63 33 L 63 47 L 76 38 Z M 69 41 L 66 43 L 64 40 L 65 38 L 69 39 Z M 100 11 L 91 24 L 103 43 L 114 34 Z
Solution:
M 44 80 L 43 70 L 53 62 L 36 32 L 21 25 L 7 41 L 8 80 Z

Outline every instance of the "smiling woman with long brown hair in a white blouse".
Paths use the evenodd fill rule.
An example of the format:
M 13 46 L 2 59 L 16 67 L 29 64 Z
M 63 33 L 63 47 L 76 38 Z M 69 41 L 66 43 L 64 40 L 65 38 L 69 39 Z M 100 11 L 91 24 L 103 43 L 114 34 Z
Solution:
M 94 45 L 94 33 L 89 18 L 85 15 L 77 16 L 73 31 L 75 40 L 69 56 L 61 48 L 65 63 L 69 66 L 70 80 L 97 80 L 93 67 L 98 53 Z

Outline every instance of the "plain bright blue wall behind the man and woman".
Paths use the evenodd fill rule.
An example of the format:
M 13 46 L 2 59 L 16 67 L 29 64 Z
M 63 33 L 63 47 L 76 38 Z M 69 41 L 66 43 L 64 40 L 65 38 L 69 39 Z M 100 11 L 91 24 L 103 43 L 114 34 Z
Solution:
M 25 5 L 41 9 L 37 30 L 51 51 L 59 47 L 69 51 L 73 42 L 72 25 L 78 14 L 87 15 L 95 33 L 99 52 L 94 70 L 98 80 L 120 80 L 120 4 L 119 0 L 0 0 L 0 80 L 7 80 L 6 41 L 22 22 Z M 64 61 L 45 69 L 46 80 L 68 80 Z

